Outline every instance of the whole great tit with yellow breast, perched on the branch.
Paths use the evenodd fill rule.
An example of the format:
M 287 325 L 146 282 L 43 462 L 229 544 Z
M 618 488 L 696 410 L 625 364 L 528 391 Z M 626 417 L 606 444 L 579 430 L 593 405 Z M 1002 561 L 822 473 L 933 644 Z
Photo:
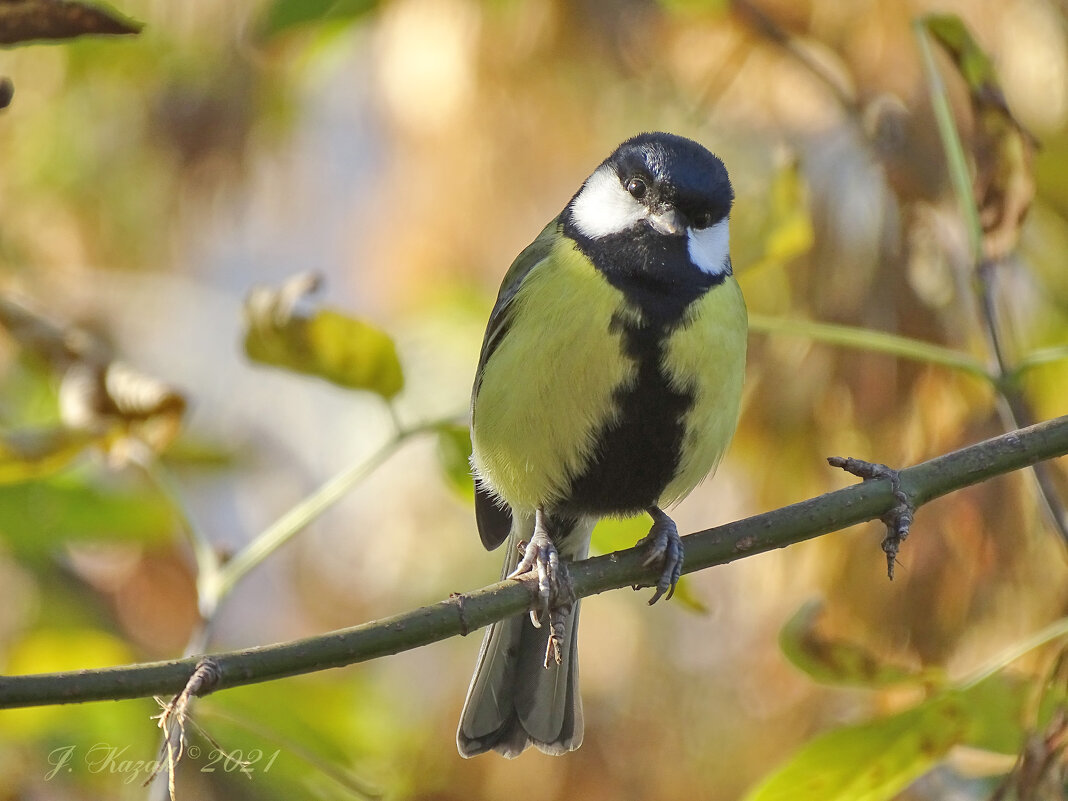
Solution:
M 642 134 L 504 277 L 472 393 L 475 518 L 487 549 L 508 540 L 504 577 L 538 571 L 553 614 L 487 631 L 456 735 L 465 757 L 581 744 L 579 611 L 557 580 L 598 518 L 650 515 L 642 541 L 662 570 L 649 602 L 674 590 L 682 546 L 662 509 L 716 469 L 738 420 L 748 321 L 733 202 L 705 147 Z

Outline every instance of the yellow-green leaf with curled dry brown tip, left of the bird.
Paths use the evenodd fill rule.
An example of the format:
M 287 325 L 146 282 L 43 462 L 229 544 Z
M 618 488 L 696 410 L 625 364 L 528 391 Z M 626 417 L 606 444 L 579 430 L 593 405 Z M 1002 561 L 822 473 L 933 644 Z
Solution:
M 318 280 L 297 276 L 281 287 L 256 287 L 245 311 L 245 351 L 253 361 L 317 376 L 391 398 L 404 388 L 393 340 L 374 326 L 330 309 L 311 314 L 297 303 Z

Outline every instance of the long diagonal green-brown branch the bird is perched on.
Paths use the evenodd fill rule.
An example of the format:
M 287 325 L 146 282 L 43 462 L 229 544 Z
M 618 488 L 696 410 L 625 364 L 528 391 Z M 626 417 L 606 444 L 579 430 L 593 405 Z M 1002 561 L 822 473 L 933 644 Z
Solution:
M 901 470 L 900 488 L 920 506 L 995 475 L 1068 454 L 1068 415 L 1010 431 Z M 890 482 L 876 480 L 774 512 L 684 537 L 686 572 L 783 548 L 884 515 L 895 503 Z M 650 583 L 631 548 L 571 566 L 577 597 Z M 428 645 L 523 612 L 531 593 L 502 581 L 411 612 L 278 645 L 104 670 L 0 677 L 0 708 L 136 698 L 180 692 L 198 665 L 217 671 L 214 690 L 341 668 Z

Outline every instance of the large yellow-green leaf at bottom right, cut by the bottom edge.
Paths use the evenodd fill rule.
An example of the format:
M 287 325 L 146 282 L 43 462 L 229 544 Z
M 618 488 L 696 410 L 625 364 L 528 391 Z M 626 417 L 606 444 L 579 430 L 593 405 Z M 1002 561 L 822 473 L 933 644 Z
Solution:
M 745 801 L 883 801 L 939 761 L 969 731 L 960 693 L 845 726 L 805 744 Z

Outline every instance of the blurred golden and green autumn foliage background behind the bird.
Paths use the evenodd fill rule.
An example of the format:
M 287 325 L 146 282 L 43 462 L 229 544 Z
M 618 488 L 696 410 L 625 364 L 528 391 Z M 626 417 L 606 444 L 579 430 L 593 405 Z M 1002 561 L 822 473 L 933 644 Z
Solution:
M 1000 183 L 1024 206 L 1033 189 L 1034 202 L 1022 226 L 1008 221 L 984 282 L 911 27 L 934 10 L 124 0 L 121 12 L 144 23 L 137 36 L 4 50 L 14 96 L 0 111 L 0 294 L 13 335 L 0 337 L 0 670 L 269 643 L 494 580 L 501 555 L 483 552 L 462 487 L 442 470 L 439 451 L 461 453 L 462 436 L 413 435 L 235 583 L 198 630 L 204 559 L 239 551 L 372 458 L 397 424 L 464 422 L 507 265 L 639 130 L 695 138 L 728 166 L 733 258 L 754 315 L 889 332 L 988 364 L 983 283 L 1010 364 L 1064 345 L 1066 7 L 937 6 L 961 17 L 1040 142 Z M 942 50 L 937 62 L 981 167 L 981 109 Z M 246 356 L 250 288 L 305 270 L 325 277 L 327 307 L 392 337 L 404 387 L 389 379 L 390 404 Z M 325 319 L 295 302 L 305 323 Z M 314 339 L 321 326 L 305 323 L 299 335 Z M 750 347 L 735 443 L 678 508 L 680 529 L 844 486 L 828 455 L 905 466 L 1004 428 L 993 386 L 967 372 L 797 331 L 756 331 Z M 1014 392 L 1035 420 L 1066 413 L 1068 362 L 1022 373 Z M 1051 474 L 1062 498 L 1064 461 Z M 595 545 L 642 533 L 616 523 Z M 945 680 L 933 676 L 970 675 L 1068 614 L 1065 547 L 1030 474 L 924 507 L 893 583 L 881 536 L 871 524 L 705 571 L 690 579 L 688 603 L 587 600 L 586 738 L 566 758 L 457 756 L 472 635 L 210 696 L 197 720 L 244 754 L 252 781 L 209 765 L 214 745 L 194 735 L 202 752 L 178 771 L 179 798 L 741 798 L 819 733 L 910 709 Z M 198 559 L 198 541 L 216 555 Z M 807 640 L 848 643 L 851 666 L 824 649 L 811 675 L 798 670 L 779 645 L 791 617 L 795 662 Z M 884 680 L 886 665 L 912 681 Z M 1009 668 L 1025 688 L 1011 697 L 1024 701 L 996 718 L 1000 739 L 946 742 L 901 798 L 995 791 L 1023 737 L 1050 720 L 1036 709 L 1058 675 L 1056 650 Z M 145 796 L 143 771 L 109 765 L 155 758 L 155 711 L 122 702 L 0 712 L 0 798 Z M 53 771 L 68 747 L 72 769 Z M 1063 780 L 1051 786 L 1064 791 Z

